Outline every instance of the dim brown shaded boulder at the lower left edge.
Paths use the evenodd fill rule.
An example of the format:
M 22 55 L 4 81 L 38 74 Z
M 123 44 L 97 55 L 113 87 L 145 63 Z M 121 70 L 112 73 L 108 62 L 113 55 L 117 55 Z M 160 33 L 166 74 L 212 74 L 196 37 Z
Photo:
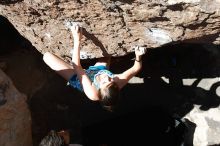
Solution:
M 26 96 L 0 70 L 0 145 L 31 146 L 31 116 Z

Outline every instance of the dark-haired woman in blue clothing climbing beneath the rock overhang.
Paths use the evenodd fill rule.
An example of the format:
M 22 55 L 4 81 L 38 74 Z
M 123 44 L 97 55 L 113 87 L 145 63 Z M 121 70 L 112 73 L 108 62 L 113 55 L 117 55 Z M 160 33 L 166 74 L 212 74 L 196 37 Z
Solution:
M 135 48 L 134 65 L 121 74 L 113 74 L 108 70 L 110 59 L 99 60 L 85 70 L 80 63 L 81 27 L 72 25 L 70 30 L 74 38 L 72 65 L 49 52 L 44 54 L 43 60 L 72 87 L 84 92 L 90 100 L 100 101 L 103 107 L 112 110 L 119 99 L 119 91 L 141 70 L 142 55 L 145 54 L 146 48 Z

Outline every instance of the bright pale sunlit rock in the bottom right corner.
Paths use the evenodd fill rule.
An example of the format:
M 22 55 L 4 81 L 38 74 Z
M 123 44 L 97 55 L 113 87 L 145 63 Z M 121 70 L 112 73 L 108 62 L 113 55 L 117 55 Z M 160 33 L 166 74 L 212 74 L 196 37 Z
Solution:
M 193 139 L 194 146 L 207 146 L 220 143 L 219 114 L 219 107 L 208 111 L 201 111 L 199 106 L 195 106 L 186 116 L 186 118 L 197 125 Z

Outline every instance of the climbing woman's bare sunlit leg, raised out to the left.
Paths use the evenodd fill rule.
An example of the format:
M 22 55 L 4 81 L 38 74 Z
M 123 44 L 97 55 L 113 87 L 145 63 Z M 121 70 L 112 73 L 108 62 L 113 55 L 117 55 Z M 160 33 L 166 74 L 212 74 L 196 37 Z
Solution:
M 72 65 L 52 53 L 46 52 L 43 60 L 51 69 L 55 70 L 67 81 L 75 74 Z

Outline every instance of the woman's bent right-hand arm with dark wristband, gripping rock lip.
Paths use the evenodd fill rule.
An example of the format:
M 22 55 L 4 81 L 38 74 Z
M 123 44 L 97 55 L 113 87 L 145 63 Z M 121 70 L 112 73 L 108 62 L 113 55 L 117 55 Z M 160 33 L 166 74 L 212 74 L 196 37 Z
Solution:
M 121 89 L 124 87 L 128 81 L 135 76 L 142 68 L 142 55 L 146 53 L 146 48 L 143 47 L 136 47 L 135 48 L 135 61 L 134 65 L 129 68 L 128 70 L 124 71 L 123 73 L 117 75 L 118 80 L 118 86 Z

